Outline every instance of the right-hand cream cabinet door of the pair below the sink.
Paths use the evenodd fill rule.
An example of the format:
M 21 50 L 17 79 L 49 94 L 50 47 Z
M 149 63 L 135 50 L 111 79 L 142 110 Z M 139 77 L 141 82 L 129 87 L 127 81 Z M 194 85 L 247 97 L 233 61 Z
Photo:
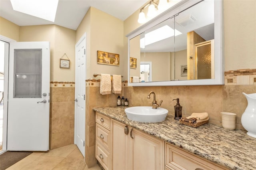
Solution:
M 133 129 L 132 169 L 164 170 L 164 141 Z

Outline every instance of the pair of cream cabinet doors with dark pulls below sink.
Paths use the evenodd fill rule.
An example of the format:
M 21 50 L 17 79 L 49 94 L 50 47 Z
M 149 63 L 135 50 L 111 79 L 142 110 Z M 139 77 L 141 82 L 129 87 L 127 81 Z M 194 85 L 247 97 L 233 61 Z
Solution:
M 164 141 L 111 120 L 113 170 L 164 170 Z

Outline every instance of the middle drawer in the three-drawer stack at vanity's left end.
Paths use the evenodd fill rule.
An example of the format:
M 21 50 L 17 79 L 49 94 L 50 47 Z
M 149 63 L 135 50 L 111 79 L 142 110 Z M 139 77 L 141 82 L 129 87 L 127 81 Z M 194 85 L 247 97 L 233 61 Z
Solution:
M 109 130 L 96 123 L 96 140 L 104 145 L 108 150 L 110 149 L 110 135 Z

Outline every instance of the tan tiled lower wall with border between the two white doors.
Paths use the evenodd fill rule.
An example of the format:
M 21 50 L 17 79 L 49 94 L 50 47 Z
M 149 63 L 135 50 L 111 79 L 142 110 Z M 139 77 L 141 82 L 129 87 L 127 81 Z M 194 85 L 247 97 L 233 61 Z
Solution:
M 50 150 L 74 144 L 74 82 L 50 82 Z

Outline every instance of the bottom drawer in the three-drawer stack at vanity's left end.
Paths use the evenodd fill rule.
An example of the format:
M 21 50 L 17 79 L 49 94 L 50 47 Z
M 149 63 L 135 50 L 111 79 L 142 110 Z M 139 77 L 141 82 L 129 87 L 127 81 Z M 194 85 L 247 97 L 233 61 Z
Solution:
M 110 154 L 105 150 L 98 141 L 95 146 L 95 156 L 105 170 L 109 170 L 110 165 Z

